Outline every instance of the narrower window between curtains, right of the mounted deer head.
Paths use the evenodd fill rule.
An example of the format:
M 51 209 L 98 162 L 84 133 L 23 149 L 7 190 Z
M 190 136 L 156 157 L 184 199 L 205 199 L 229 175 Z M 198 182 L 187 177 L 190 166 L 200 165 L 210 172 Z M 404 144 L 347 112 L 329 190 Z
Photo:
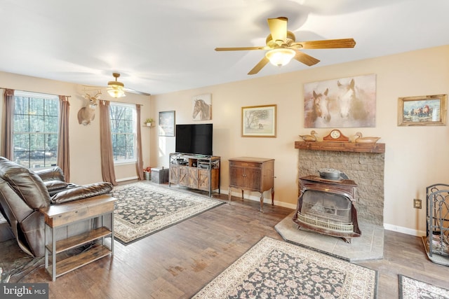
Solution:
M 137 144 L 135 106 L 111 103 L 109 109 L 114 162 L 135 162 L 135 146 Z

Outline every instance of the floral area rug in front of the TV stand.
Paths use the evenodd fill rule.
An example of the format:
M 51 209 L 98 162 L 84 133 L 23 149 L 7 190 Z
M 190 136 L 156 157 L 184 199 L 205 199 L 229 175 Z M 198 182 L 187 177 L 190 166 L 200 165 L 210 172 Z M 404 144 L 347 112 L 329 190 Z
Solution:
M 114 237 L 130 244 L 225 202 L 150 183 L 116 186 Z

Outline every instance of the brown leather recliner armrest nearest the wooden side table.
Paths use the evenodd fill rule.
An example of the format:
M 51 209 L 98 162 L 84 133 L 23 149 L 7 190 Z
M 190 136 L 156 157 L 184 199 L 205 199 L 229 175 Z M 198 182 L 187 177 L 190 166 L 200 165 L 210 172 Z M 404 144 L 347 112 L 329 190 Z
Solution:
M 109 194 L 112 190 L 112 183 L 100 182 L 88 185 L 69 188 L 51 197 L 51 204 L 62 204 L 74 200 L 83 200 L 88 197 Z

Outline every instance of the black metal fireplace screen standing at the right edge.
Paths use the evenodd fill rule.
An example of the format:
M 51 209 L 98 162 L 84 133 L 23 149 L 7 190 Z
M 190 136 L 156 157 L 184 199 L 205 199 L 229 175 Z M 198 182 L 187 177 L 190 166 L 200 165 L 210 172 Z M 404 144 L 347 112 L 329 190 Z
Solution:
M 426 230 L 423 242 L 434 263 L 449 265 L 449 184 L 426 188 Z

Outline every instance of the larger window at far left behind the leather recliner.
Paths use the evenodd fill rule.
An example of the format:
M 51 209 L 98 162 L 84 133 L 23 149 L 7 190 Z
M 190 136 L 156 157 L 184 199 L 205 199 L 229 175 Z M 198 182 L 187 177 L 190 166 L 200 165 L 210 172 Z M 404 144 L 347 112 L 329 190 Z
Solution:
M 13 161 L 27 168 L 56 165 L 59 97 L 14 92 Z

